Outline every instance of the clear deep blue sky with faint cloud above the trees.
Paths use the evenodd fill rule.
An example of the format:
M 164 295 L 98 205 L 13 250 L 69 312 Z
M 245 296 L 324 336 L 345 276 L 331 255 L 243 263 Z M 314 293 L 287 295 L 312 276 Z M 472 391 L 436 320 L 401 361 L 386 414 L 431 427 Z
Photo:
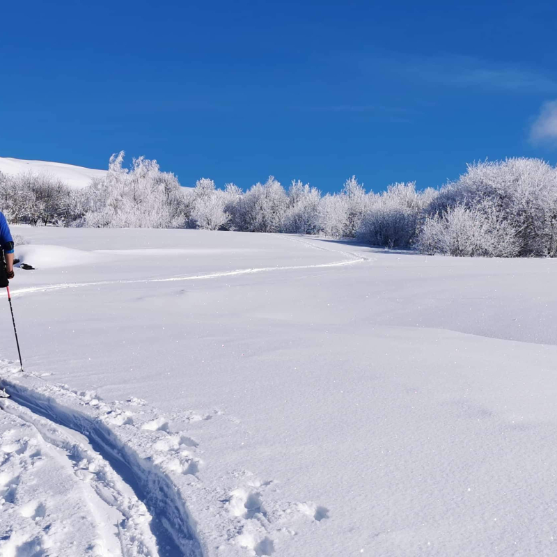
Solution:
M 455 3 L 456 4 L 456 3 Z M 461 4 L 461 3 L 459 3 Z M 273 174 L 436 187 L 466 162 L 557 162 L 554 1 L 10 2 L 0 156 L 182 185 Z

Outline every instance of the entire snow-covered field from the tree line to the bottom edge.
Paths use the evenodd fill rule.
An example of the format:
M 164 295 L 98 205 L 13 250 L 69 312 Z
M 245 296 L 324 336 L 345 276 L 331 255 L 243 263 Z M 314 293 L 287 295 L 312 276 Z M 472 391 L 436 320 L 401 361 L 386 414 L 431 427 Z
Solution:
M 1 555 L 557 554 L 557 260 L 13 231 Z

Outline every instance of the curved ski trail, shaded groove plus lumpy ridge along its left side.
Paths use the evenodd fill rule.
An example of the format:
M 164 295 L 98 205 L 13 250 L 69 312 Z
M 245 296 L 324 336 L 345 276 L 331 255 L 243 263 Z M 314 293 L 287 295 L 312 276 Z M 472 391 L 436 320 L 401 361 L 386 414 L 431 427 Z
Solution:
M 0 407 L 33 425 L 45 443 L 65 451 L 76 473 L 88 470 L 95 493 L 123 515 L 118 528 L 123 556 L 201 557 L 185 504 L 156 465 L 123 446 L 109 427 L 93 416 L 63 407 L 54 398 L 6 379 L 3 387 L 10 398 L 0 400 Z M 56 426 L 83 435 L 91 448 L 73 441 Z

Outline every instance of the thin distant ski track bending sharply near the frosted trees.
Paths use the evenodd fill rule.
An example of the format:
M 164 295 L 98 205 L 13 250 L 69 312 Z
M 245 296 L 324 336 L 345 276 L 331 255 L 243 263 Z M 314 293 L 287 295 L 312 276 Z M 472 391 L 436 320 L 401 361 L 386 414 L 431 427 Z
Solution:
M 285 240 L 289 240 L 290 242 L 297 242 L 299 244 L 304 244 L 304 246 L 311 249 L 328 251 L 331 253 L 340 253 L 345 257 L 345 260 L 334 261 L 330 263 L 317 263 L 315 265 L 285 265 L 282 267 L 253 267 L 251 269 L 235 269 L 232 271 L 222 271 L 222 272 L 214 272 L 214 273 L 198 274 L 198 275 L 186 275 L 186 276 L 171 276 L 167 278 L 142 278 L 139 280 L 134 279 L 134 280 L 120 280 L 120 281 L 97 281 L 97 282 L 90 282 L 90 283 L 62 283 L 62 284 L 52 284 L 52 285 L 45 285 L 45 286 L 30 286 L 29 288 L 19 288 L 17 290 L 12 290 L 11 293 L 12 296 L 17 296 L 17 295 L 24 295 L 24 294 L 32 294 L 35 292 L 52 292 L 53 290 L 65 290 L 66 288 L 83 288 L 87 286 L 198 281 L 198 280 L 205 280 L 209 278 L 222 278 L 226 276 L 239 276 L 244 274 L 257 274 L 257 273 L 272 272 L 272 271 L 291 271 L 296 269 L 323 269 L 327 267 L 345 267 L 346 265 L 355 265 L 357 263 L 363 263 L 372 260 L 371 258 L 367 258 L 361 255 L 356 255 L 355 253 L 352 253 L 350 251 L 337 251 L 334 249 L 329 249 L 322 246 L 310 244 L 308 242 L 304 242 L 303 240 L 297 240 L 295 238 L 288 237 L 288 236 L 285 237 L 281 236 L 281 238 Z M 348 258 L 348 260 L 346 260 L 346 258 Z

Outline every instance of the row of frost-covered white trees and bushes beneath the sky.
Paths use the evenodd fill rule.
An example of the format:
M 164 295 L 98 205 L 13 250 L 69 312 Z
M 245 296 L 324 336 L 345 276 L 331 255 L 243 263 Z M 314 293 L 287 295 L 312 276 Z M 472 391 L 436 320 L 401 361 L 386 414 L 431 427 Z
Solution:
M 13 223 L 109 228 L 203 228 L 356 238 L 452 256 L 557 256 L 557 168 L 540 159 L 469 164 L 440 189 L 414 182 L 366 193 L 355 177 L 338 194 L 272 176 L 248 191 L 201 178 L 182 188 L 157 162 L 113 155 L 104 178 L 69 189 L 45 175 L 0 173 L 0 207 Z

